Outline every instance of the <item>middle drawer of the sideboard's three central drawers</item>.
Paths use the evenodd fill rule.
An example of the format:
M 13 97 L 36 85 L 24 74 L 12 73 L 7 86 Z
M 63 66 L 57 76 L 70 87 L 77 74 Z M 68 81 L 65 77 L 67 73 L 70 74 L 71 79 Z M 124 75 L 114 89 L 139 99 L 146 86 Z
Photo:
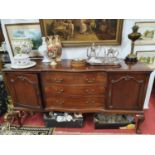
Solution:
M 51 95 L 104 95 L 105 86 L 101 85 L 63 85 L 63 84 L 53 84 L 44 87 L 45 96 L 49 97 Z

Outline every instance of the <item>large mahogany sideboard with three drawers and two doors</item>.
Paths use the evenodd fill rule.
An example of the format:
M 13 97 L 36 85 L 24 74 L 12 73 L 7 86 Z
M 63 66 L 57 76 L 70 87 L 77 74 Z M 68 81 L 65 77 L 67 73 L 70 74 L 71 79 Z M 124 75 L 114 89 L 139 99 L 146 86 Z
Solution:
M 15 110 L 134 114 L 144 120 L 143 104 L 151 69 L 138 62 L 120 68 L 57 66 L 41 61 L 28 69 L 3 69 Z

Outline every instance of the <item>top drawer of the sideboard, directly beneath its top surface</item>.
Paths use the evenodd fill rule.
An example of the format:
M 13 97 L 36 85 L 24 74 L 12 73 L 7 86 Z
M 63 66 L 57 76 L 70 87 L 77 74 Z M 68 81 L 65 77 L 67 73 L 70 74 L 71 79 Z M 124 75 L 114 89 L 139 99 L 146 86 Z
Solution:
M 85 72 L 85 73 L 43 73 L 42 80 L 44 84 L 64 83 L 64 84 L 93 84 L 107 83 L 107 74 L 104 72 Z

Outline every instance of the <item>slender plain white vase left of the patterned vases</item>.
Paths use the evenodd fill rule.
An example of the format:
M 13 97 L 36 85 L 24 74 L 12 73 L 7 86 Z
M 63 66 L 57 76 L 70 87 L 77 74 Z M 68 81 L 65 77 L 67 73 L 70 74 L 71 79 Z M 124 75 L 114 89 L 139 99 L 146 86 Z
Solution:
M 39 52 L 43 56 L 42 62 L 51 62 L 48 57 L 48 46 L 46 42 L 46 37 L 42 37 L 42 45 L 39 47 Z

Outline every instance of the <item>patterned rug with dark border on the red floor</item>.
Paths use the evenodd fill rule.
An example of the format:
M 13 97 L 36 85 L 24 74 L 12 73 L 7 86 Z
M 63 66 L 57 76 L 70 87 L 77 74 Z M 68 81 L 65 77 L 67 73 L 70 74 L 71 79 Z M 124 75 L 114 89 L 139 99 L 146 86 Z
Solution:
M 15 127 L 11 126 L 10 130 L 0 126 L 0 135 L 52 135 L 52 128 L 42 127 Z

